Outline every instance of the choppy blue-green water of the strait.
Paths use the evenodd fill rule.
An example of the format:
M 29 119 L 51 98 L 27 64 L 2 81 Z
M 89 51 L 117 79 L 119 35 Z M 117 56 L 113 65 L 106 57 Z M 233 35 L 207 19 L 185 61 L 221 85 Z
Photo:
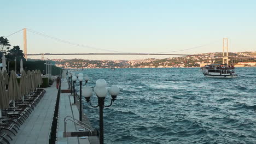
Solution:
M 83 72 L 92 87 L 102 78 L 123 89 L 103 110 L 105 143 L 256 143 L 256 68 L 236 71 L 236 79 L 206 78 L 199 68 Z M 84 111 L 98 128 L 98 109 L 84 103 Z

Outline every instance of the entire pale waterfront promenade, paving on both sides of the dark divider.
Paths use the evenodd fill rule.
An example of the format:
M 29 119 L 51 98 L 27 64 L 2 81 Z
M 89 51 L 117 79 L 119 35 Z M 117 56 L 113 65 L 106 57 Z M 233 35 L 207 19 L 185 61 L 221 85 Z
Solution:
M 68 89 L 67 82 L 62 82 L 61 85 L 61 89 Z M 35 107 L 30 117 L 28 117 L 25 123 L 21 125 L 18 134 L 13 137 L 13 141 L 10 141 L 11 144 L 49 143 L 51 123 L 53 121 L 54 108 L 57 98 L 56 82 L 54 82 L 53 86 L 44 89 L 46 93 L 39 101 L 39 104 Z M 81 139 L 81 137 L 63 137 L 64 118 L 66 116 L 71 116 L 75 119 L 79 119 L 79 105 L 74 105 L 73 103 L 73 96 L 70 95 L 70 93 L 61 93 L 56 143 L 99 143 L 96 136 L 86 136 L 85 139 Z M 77 104 L 79 104 L 79 101 L 77 101 Z M 90 125 L 89 119 L 86 118 L 85 115 L 83 117 L 83 122 Z M 74 124 L 71 121 L 68 121 L 66 125 L 66 129 L 68 132 L 79 131 L 79 129 L 81 128 L 82 127 Z M 93 131 L 92 128 L 91 130 Z

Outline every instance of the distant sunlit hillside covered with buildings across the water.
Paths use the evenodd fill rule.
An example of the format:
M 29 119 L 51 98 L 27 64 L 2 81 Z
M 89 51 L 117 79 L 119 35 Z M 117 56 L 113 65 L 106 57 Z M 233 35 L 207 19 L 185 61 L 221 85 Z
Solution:
M 229 53 L 229 56 L 241 56 L 241 57 L 250 57 L 251 53 L 247 52 L 238 52 L 238 53 Z M 164 67 L 200 67 L 200 64 L 205 63 L 222 63 L 221 57 L 209 57 L 208 55 L 213 56 L 222 56 L 221 52 L 215 53 L 201 53 L 199 55 L 205 56 L 182 56 L 182 57 L 171 57 L 164 59 L 139 59 L 139 60 L 88 60 L 88 59 L 53 59 L 56 62 L 56 65 L 59 67 L 65 68 L 164 68 Z M 236 64 L 238 62 L 255 62 L 254 59 L 248 58 L 230 58 L 229 61 L 231 64 Z

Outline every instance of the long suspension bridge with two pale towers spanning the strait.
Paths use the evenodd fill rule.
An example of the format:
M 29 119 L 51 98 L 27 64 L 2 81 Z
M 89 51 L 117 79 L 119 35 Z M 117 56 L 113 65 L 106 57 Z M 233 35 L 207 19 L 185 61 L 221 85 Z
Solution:
M 122 52 L 122 51 L 113 51 L 113 50 L 107 50 L 107 49 L 100 49 L 97 47 L 92 47 L 92 46 L 88 46 L 88 45 L 81 45 L 81 44 L 76 44 L 76 43 L 72 43 L 70 41 L 67 40 L 62 40 L 56 37 L 52 37 L 50 35 L 46 35 L 37 31 L 33 31 L 32 29 L 28 29 L 28 28 L 23 28 L 20 29 L 19 31 L 9 34 L 7 35 L 5 38 L 10 37 L 11 35 L 14 35 L 18 32 L 23 31 L 23 35 L 24 35 L 24 56 L 27 59 L 27 56 L 42 56 L 42 59 L 44 59 L 44 56 L 56 56 L 56 55 L 151 55 L 151 56 L 203 56 L 203 57 L 219 57 L 219 58 L 223 58 L 223 63 L 227 63 L 229 61 L 229 58 L 249 58 L 249 59 L 256 59 L 255 57 L 244 57 L 244 56 L 229 56 L 229 44 L 228 44 L 228 38 L 223 38 L 223 55 L 222 56 L 216 56 L 216 55 L 189 55 L 189 54 L 177 54 L 177 53 L 170 53 L 170 52 L 179 52 L 179 51 L 186 51 L 186 50 L 190 50 L 190 49 L 195 49 L 197 47 L 202 47 L 205 45 L 201 45 L 201 46 L 196 46 L 196 47 L 191 47 L 189 49 L 183 49 L 183 50 L 177 50 L 177 51 L 170 51 L 170 52 L 158 52 L 158 53 L 131 53 L 131 52 Z M 80 46 L 80 47 L 85 47 L 85 48 L 89 48 L 89 49 L 95 49 L 95 50 L 101 50 L 101 51 L 109 51 L 111 53 L 27 53 L 27 31 L 32 32 L 34 34 L 38 34 L 41 35 L 43 37 L 49 38 L 49 39 L 53 39 L 53 40 L 57 40 L 60 41 L 62 43 L 66 43 L 66 44 L 70 44 L 70 45 L 74 45 L 74 46 Z M 207 44 L 206 44 L 207 45 Z M 115 53 L 113 53 L 115 52 Z

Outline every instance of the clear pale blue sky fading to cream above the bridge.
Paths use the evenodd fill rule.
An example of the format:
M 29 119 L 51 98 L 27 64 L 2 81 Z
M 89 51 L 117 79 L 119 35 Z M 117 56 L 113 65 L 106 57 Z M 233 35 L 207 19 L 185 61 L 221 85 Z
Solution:
M 256 51 L 256 1 L 1 1 L 0 36 L 27 31 L 27 53 Z M 63 43 L 34 32 L 66 40 Z M 23 50 L 23 33 L 8 37 Z M 191 49 L 190 49 L 191 48 Z M 185 51 L 179 51 L 189 49 Z M 178 51 L 178 52 L 172 52 Z M 170 56 L 48 56 L 144 59 Z M 39 58 L 29 57 L 29 58 Z

